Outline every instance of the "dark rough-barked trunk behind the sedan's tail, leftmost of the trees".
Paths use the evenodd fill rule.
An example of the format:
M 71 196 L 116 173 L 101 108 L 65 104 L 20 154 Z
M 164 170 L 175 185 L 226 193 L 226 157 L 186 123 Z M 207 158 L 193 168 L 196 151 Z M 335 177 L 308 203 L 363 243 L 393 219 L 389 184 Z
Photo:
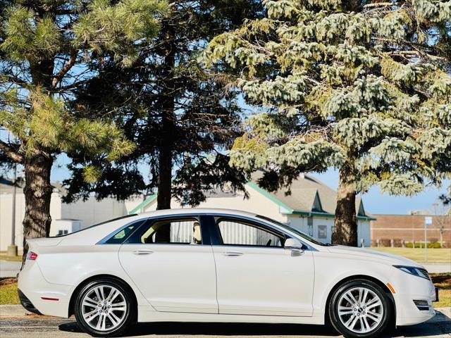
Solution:
M 53 158 L 39 153 L 25 158 L 25 218 L 23 219 L 22 265 L 27 257 L 27 239 L 47 237 L 50 231 L 50 172 Z

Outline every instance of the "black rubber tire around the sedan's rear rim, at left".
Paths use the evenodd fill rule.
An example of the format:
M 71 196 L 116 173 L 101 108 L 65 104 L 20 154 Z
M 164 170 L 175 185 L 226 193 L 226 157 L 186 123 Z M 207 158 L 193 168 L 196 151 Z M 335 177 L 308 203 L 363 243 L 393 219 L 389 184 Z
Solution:
M 123 300 L 126 303 L 126 310 L 124 311 L 125 314 L 123 315 L 123 318 L 121 318 L 121 323 L 119 323 L 117 327 L 113 327 L 110 330 L 108 328 L 106 328 L 106 330 L 96 330 L 94 327 L 90 326 L 87 323 L 87 320 L 85 320 L 82 315 L 83 299 L 85 298 L 87 293 L 92 292 L 92 289 L 94 287 L 99 286 L 104 286 L 106 290 L 109 290 L 109 292 L 113 290 L 111 289 L 111 287 L 117 289 L 119 292 L 121 292 L 121 298 L 123 297 Z M 94 308 L 94 306 L 92 308 Z M 123 282 L 120 282 L 114 278 L 102 277 L 98 280 L 92 280 L 91 282 L 88 282 L 84 287 L 82 287 L 82 289 L 80 289 L 80 292 L 75 299 L 73 312 L 75 314 L 75 319 L 77 320 L 78 325 L 87 334 L 90 334 L 93 337 L 116 337 L 118 334 L 121 334 L 125 330 L 127 330 L 129 325 L 135 321 L 136 308 L 137 306 L 135 304 L 135 297 L 131 294 L 130 289 L 126 287 Z M 100 308 L 99 311 L 101 312 Z M 106 321 L 106 323 L 108 323 L 108 320 Z M 111 321 L 109 323 L 112 325 Z

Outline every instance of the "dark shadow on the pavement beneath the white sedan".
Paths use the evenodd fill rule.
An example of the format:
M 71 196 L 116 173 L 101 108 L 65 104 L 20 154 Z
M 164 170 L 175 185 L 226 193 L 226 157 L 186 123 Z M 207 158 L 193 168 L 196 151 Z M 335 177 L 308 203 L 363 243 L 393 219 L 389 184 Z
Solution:
M 447 325 L 447 327 L 446 327 Z M 75 321 L 59 325 L 59 330 L 82 332 Z M 428 337 L 450 333 L 450 325 L 419 324 L 399 327 L 385 337 Z M 138 323 L 122 337 L 147 334 L 190 336 L 329 336 L 338 337 L 332 327 L 299 324 L 242 324 L 242 323 Z

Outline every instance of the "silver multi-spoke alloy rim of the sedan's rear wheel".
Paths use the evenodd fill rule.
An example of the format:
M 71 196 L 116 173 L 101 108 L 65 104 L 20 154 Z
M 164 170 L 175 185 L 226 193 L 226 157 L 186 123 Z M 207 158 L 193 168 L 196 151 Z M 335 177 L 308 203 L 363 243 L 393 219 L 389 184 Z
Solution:
M 83 319 L 94 330 L 109 331 L 123 323 L 127 313 L 125 297 L 116 287 L 96 285 L 82 299 Z

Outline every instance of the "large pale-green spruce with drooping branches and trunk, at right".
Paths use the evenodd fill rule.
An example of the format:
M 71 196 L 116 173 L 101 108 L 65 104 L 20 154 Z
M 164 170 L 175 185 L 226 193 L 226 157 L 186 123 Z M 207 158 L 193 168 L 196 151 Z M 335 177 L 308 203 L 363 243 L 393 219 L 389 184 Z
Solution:
M 451 173 L 451 1 L 264 0 L 266 18 L 214 38 L 207 64 L 258 113 L 231 165 L 289 187 L 339 168 L 333 242 L 357 245 L 355 195 L 412 195 Z M 289 189 L 289 188 L 288 188 Z

